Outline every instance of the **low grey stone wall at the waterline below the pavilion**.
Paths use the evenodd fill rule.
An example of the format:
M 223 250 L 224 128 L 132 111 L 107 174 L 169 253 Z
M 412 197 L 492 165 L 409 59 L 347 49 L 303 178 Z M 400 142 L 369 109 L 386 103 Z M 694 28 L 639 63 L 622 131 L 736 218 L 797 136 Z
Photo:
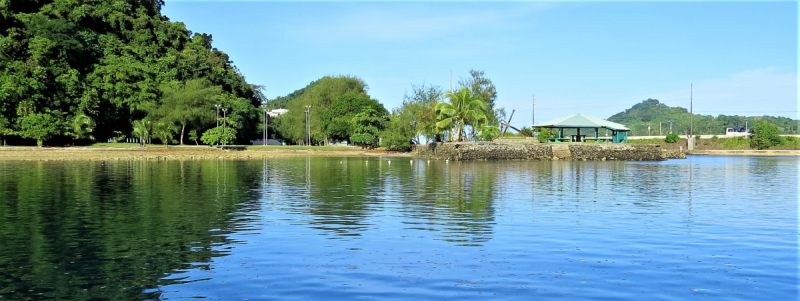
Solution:
M 643 144 L 524 144 L 450 142 L 417 145 L 417 157 L 438 160 L 582 160 L 662 161 L 667 156 L 656 145 Z

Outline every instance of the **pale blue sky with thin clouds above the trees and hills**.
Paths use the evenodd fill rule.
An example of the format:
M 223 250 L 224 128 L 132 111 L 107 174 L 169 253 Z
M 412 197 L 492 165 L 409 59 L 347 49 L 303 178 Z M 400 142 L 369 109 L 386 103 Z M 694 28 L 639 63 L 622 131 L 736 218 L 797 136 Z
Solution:
M 647 98 L 798 118 L 797 2 L 207 2 L 162 13 L 213 35 L 269 98 L 355 75 L 387 109 L 484 70 L 512 124 L 608 118 Z

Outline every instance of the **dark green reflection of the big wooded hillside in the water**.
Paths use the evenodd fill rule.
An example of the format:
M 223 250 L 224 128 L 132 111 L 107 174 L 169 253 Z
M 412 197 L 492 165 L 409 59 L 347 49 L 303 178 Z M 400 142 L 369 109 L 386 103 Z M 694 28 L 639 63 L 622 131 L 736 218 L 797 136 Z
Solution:
M 212 247 L 258 177 L 231 165 L 0 162 L 0 297 L 157 298 L 142 291 L 222 255 Z

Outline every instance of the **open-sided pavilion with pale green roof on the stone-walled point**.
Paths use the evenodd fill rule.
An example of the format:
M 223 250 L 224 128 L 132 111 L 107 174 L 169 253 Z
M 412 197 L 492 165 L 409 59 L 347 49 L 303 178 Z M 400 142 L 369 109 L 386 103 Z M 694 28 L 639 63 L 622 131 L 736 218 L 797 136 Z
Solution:
M 623 124 L 611 122 L 608 120 L 600 119 L 597 117 L 587 116 L 583 114 L 575 114 L 565 116 L 545 122 L 540 122 L 533 125 L 534 128 L 547 128 L 558 129 L 558 137 L 550 138 L 550 141 L 568 141 L 568 142 L 612 142 L 612 143 L 627 143 L 628 134 L 631 129 Z M 564 129 L 576 129 L 577 135 L 564 136 Z M 581 129 L 594 129 L 594 138 L 581 135 Z M 611 137 L 598 137 L 600 129 L 611 130 Z

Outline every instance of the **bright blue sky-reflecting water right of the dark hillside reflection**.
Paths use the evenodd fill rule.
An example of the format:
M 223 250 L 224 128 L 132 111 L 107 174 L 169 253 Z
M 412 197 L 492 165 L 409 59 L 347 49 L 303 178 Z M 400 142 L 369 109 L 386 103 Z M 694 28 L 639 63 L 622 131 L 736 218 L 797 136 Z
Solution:
M 266 166 L 261 199 L 247 209 L 256 216 L 236 226 L 230 256 L 189 271 L 207 280 L 164 287 L 165 297 L 797 296 L 796 158 Z M 368 185 L 312 199 L 328 195 L 317 181 L 345 169 Z M 491 193 L 471 189 L 482 181 Z M 353 187 L 360 205 L 314 210 L 344 208 L 334 197 Z M 482 196 L 484 208 L 470 207 Z

